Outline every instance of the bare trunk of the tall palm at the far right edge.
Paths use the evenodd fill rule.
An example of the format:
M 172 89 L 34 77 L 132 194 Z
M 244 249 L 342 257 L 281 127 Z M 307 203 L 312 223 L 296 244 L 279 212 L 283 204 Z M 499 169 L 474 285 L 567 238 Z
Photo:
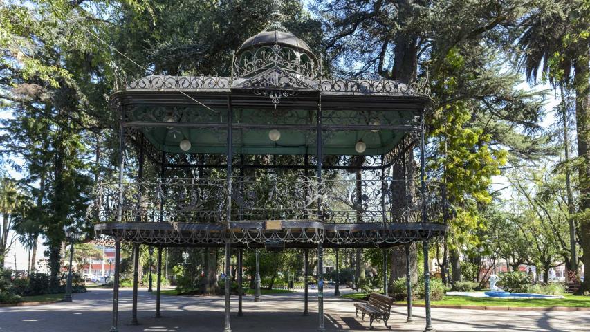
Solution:
M 578 137 L 578 177 L 580 182 L 580 246 L 584 264 L 584 282 L 578 293 L 590 291 L 590 57 L 588 54 L 574 63 L 575 120 Z

